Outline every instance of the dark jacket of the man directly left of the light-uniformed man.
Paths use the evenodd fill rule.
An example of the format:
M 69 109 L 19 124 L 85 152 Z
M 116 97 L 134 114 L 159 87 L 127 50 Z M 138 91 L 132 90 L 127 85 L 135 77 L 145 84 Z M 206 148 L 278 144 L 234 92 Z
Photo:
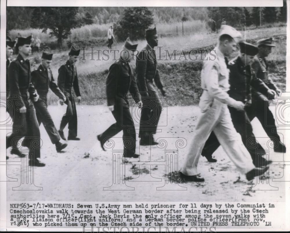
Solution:
M 147 81 L 153 83 L 154 80 L 158 89 L 163 87 L 157 69 L 155 50 L 153 50 L 150 45 L 147 45 L 138 53 L 136 59 L 136 73 L 140 92 L 148 91 L 146 86 Z

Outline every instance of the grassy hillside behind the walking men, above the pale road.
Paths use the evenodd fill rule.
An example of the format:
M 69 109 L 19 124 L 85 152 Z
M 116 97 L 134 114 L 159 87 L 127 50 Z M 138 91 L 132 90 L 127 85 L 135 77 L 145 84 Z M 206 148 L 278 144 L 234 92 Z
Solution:
M 259 39 L 273 37 L 277 45 L 268 57 L 270 62 L 269 75 L 276 81 L 277 85 L 285 90 L 286 88 L 286 27 L 276 28 L 258 28 L 243 32 L 244 38 L 252 43 L 256 43 Z M 191 49 L 212 49 L 217 41 L 217 34 L 204 33 L 189 35 L 186 37 L 162 37 L 159 45 L 164 46 L 161 50 L 161 61 L 158 61 L 159 71 L 162 82 L 166 87 L 168 96 L 168 105 L 191 105 L 197 104 L 202 90 L 200 89 L 200 70 L 202 62 L 200 61 L 166 61 L 164 49 L 169 52 L 176 50 L 178 54 L 182 50 L 188 53 Z M 88 43 L 88 41 L 84 41 Z M 142 49 L 146 45 L 146 41 L 137 41 L 138 49 Z M 122 43 L 114 43 L 114 49 L 121 48 Z M 106 45 L 97 47 L 97 49 L 106 49 Z M 58 52 L 53 56 L 52 72 L 57 79 L 58 68 L 67 58 L 66 52 Z M 95 53 L 96 55 L 96 53 Z M 159 50 L 156 52 L 159 57 Z M 41 54 L 33 54 L 32 64 L 36 67 L 41 59 Z M 81 56 L 80 56 L 81 57 Z M 83 103 L 85 104 L 102 104 L 106 103 L 105 80 L 108 68 L 113 61 L 90 61 L 90 55 L 86 55 L 86 61 L 77 63 L 79 75 L 79 85 L 82 93 Z M 135 61 L 132 61 L 134 68 Z M 49 93 L 49 103 L 54 104 L 57 97 Z

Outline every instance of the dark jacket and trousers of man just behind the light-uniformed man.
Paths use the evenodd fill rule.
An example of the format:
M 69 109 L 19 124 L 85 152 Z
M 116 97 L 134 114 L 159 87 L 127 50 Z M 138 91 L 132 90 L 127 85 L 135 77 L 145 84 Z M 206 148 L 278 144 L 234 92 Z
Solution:
M 239 57 L 231 61 L 228 68 L 230 70 L 230 90 L 228 93 L 233 99 L 242 101 L 243 103 L 245 103 L 246 99 L 250 100 L 251 86 L 257 88 L 263 93 L 267 93 L 267 86 L 262 80 L 252 77 L 250 66 L 244 67 Z M 251 121 L 247 115 L 248 107 L 246 107 L 245 111 L 238 111 L 232 107 L 228 108 L 235 130 L 241 135 L 242 142 L 250 153 L 253 163 L 256 165 L 257 162 L 259 162 L 257 159 L 260 159 L 260 156 L 265 154 L 265 150 L 258 141 L 256 141 L 255 135 L 253 134 Z M 213 152 L 215 152 L 219 146 L 220 143 L 216 135 L 214 132 L 211 132 L 202 150 L 202 155 L 205 157 L 211 157 Z

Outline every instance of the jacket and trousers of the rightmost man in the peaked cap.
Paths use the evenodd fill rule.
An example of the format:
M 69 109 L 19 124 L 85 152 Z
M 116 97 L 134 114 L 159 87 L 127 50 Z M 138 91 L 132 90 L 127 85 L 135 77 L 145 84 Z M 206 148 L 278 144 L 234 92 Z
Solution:
M 270 89 L 276 91 L 277 86 L 272 79 L 268 77 L 268 65 L 266 59 L 255 57 L 252 63 L 252 69 L 256 73 L 257 78 L 261 79 Z M 274 144 L 280 142 L 280 136 L 277 133 L 275 119 L 268 107 L 268 100 L 262 93 L 252 89 L 252 106 L 248 111 L 250 120 L 258 118 L 268 137 Z M 275 146 L 275 145 L 274 145 Z

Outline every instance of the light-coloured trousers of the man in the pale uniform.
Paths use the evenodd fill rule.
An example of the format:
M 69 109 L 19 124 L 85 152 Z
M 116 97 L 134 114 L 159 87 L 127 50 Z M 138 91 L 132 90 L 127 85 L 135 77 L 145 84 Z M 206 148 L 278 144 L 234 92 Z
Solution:
M 241 173 L 246 174 L 255 168 L 240 134 L 233 126 L 228 106 L 214 99 L 211 108 L 202 113 L 197 122 L 195 135 L 181 170 L 183 174 L 188 176 L 198 174 L 198 159 L 211 131 L 215 132 L 222 148 Z

